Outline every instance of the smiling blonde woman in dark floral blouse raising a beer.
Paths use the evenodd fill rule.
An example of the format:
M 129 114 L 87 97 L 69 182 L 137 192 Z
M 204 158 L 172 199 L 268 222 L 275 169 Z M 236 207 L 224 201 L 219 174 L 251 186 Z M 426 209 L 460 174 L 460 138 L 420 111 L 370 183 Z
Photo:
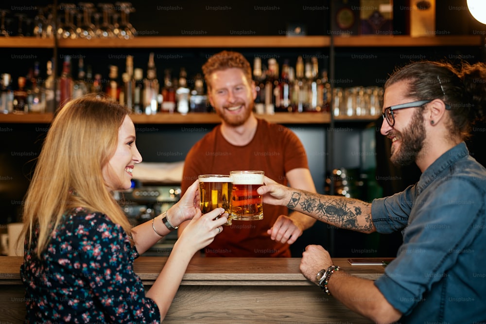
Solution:
M 158 323 L 191 257 L 223 230 L 222 208 L 198 209 L 197 181 L 166 213 L 131 228 L 111 191 L 130 188 L 142 160 L 135 137 L 129 111 L 105 99 L 71 101 L 53 120 L 25 199 L 26 323 Z M 134 259 L 187 220 L 145 293 Z

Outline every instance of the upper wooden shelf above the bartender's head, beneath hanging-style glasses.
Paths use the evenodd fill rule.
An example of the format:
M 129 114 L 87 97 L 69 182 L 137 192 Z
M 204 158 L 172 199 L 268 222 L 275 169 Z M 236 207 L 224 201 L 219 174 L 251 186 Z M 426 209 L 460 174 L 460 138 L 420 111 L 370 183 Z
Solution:
M 299 48 L 329 47 L 330 36 L 141 36 L 133 39 L 59 39 L 59 48 L 210 48 L 259 47 Z M 481 46 L 481 35 L 408 35 L 336 36 L 336 47 L 420 47 L 420 46 Z M 36 37 L 5 37 L 2 48 L 53 48 L 53 39 Z

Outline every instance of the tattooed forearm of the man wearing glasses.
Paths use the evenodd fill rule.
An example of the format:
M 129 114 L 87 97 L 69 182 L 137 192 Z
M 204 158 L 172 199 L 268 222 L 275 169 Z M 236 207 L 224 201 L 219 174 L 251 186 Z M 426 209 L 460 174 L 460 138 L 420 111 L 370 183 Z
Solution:
M 295 209 L 297 204 L 304 213 L 339 228 L 367 232 L 374 227 L 371 214 L 365 215 L 360 201 L 355 199 L 304 192 L 301 201 L 300 193 L 293 192 L 287 207 Z

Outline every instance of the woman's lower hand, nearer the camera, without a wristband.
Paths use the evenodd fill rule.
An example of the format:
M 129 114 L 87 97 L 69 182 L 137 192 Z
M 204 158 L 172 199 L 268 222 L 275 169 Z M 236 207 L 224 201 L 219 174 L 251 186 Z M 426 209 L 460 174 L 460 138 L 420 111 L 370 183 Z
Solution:
M 197 209 L 196 215 L 175 244 L 184 246 L 184 250 L 189 249 L 194 254 L 208 246 L 216 235 L 223 232 L 222 225 L 226 224 L 227 220 L 228 214 L 224 208 L 216 208 L 204 215 Z

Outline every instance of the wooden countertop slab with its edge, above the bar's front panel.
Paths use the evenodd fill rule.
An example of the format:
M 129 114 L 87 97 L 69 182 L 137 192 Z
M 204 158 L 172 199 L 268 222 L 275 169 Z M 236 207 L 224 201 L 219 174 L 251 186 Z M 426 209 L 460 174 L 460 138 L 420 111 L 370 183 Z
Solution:
M 156 280 L 167 257 L 141 256 L 134 270 L 143 284 Z M 347 273 L 376 280 L 384 272 L 382 266 L 351 266 L 347 258 L 334 258 Z M 0 256 L 0 285 L 21 285 L 21 256 Z M 299 270 L 300 258 L 204 258 L 191 260 L 181 285 L 238 286 L 307 286 L 312 285 Z M 235 272 L 238 269 L 238 272 Z

